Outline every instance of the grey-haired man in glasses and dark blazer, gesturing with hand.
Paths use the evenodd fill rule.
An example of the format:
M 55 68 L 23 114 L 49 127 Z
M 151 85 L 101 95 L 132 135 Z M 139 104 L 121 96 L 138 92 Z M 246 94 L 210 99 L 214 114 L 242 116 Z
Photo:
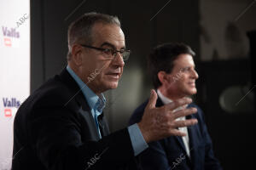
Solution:
M 68 28 L 67 67 L 17 111 L 12 169 L 133 170 L 137 169 L 135 156 L 148 142 L 183 136 L 177 127 L 197 123 L 196 119 L 175 122 L 195 113 L 195 108 L 171 114 L 191 99 L 155 108 L 157 94 L 152 90 L 143 120 L 109 133 L 102 93 L 118 87 L 129 54 L 117 17 L 89 13 L 75 20 Z

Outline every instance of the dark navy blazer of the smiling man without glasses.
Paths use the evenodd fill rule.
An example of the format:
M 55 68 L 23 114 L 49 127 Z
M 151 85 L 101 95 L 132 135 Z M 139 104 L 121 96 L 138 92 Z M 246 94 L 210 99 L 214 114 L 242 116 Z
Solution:
M 130 124 L 140 122 L 147 104 L 148 101 L 134 111 L 129 122 Z M 160 107 L 161 105 L 163 105 L 163 102 L 158 98 L 156 106 Z M 138 156 L 142 169 L 222 169 L 218 160 L 213 155 L 212 140 L 207 132 L 203 112 L 195 104 L 190 104 L 188 107 L 196 107 L 198 111 L 194 115 L 186 117 L 187 119 L 193 117 L 198 120 L 198 124 L 188 127 L 191 158 L 186 155 L 183 139 L 181 137 L 171 136 L 148 144 L 148 149 Z

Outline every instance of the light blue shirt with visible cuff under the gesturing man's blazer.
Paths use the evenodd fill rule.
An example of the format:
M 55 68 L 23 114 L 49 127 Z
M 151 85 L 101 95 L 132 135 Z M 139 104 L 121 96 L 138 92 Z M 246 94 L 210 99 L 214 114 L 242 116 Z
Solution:
M 97 96 L 86 84 L 74 73 L 74 71 L 67 65 L 67 71 L 73 77 L 75 82 L 79 84 L 79 88 L 81 88 L 82 93 L 84 94 L 85 99 L 88 102 L 88 105 L 90 106 L 90 111 L 95 119 L 96 127 L 98 128 L 98 132 L 101 136 L 101 132 L 99 129 L 99 125 L 97 124 L 96 118 L 97 116 L 102 114 L 102 110 L 104 109 L 106 105 L 106 99 L 103 94 L 101 96 Z M 92 80 L 93 81 L 93 80 Z M 143 138 L 143 134 L 139 127 L 137 126 L 137 123 L 131 125 L 128 127 L 128 132 L 130 134 L 131 139 L 131 145 L 134 151 L 134 156 L 137 156 L 139 153 L 141 153 L 143 150 L 148 148 L 148 144 L 146 143 L 145 139 Z

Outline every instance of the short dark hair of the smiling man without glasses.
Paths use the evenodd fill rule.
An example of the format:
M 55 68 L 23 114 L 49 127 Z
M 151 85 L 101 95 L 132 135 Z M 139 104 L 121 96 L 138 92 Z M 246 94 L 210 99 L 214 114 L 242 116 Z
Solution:
M 160 71 L 171 73 L 179 54 L 195 56 L 195 52 L 188 45 L 178 42 L 160 44 L 148 55 L 148 71 L 154 88 L 159 88 L 161 85 L 158 73 Z

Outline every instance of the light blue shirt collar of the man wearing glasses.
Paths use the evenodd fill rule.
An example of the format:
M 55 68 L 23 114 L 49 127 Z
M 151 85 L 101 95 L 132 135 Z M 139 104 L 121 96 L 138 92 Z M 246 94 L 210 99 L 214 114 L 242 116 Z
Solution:
M 90 109 L 93 109 L 95 111 L 99 111 L 102 113 L 102 110 L 104 109 L 106 105 L 106 99 L 103 94 L 97 96 L 88 86 L 76 75 L 76 73 L 70 68 L 69 65 L 67 65 L 67 71 L 73 77 L 75 82 L 78 83 L 80 90 L 84 94 L 85 99 L 88 102 L 88 105 L 90 106 Z

